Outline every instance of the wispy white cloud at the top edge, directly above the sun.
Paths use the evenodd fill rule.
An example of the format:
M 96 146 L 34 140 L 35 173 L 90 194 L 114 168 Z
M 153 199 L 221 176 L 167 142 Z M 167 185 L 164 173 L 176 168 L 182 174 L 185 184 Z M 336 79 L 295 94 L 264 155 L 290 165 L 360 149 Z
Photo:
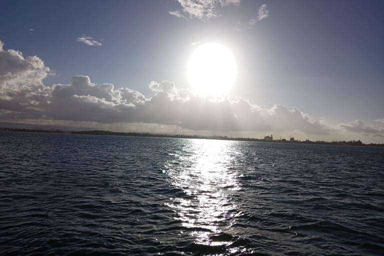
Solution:
M 181 4 L 181 11 L 169 11 L 169 14 L 182 18 L 209 20 L 220 16 L 218 7 L 238 5 L 240 0 L 176 0 Z M 182 14 L 182 13 L 184 14 Z

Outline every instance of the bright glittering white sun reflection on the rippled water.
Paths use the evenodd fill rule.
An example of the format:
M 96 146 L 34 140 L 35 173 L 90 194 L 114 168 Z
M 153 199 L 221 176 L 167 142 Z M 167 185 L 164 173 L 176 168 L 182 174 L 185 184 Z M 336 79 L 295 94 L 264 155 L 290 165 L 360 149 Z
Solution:
M 229 241 L 212 239 L 227 232 L 236 204 L 233 193 L 240 188 L 237 173 L 231 169 L 233 141 L 191 139 L 178 154 L 178 165 L 170 164 L 168 174 L 174 187 L 186 194 L 171 198 L 168 204 L 182 226 L 191 230 L 195 243 L 227 245 Z

